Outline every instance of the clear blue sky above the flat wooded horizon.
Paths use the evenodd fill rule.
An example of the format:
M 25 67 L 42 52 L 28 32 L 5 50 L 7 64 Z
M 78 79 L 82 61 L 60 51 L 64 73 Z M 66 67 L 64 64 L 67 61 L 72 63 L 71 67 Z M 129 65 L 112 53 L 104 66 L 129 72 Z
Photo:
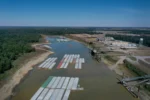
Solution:
M 0 26 L 150 27 L 150 0 L 0 0 Z

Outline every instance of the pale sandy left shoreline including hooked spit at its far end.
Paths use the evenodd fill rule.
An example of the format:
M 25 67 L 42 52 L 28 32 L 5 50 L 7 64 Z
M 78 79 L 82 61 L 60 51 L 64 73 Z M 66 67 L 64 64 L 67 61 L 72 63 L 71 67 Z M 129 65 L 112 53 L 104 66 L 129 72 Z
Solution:
M 45 43 L 36 43 L 38 45 L 42 45 Z M 40 62 L 44 61 L 50 54 L 53 52 L 46 50 L 44 48 L 37 47 L 36 44 L 32 44 L 31 46 L 38 50 L 44 51 L 38 55 L 32 56 L 28 59 L 28 61 L 24 61 L 23 64 L 19 65 L 20 68 L 14 72 L 14 74 L 4 85 L 0 88 L 0 100 L 5 100 L 13 95 L 13 89 L 21 83 L 21 80 L 33 69 L 33 67 Z M 48 44 L 48 43 L 47 43 Z

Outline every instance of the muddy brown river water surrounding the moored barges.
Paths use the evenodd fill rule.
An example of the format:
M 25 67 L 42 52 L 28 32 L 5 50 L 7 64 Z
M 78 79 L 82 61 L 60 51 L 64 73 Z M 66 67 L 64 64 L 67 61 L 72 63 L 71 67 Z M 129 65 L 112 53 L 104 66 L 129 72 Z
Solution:
M 55 52 L 50 57 L 58 57 L 57 64 L 52 70 L 38 69 L 32 71 L 15 88 L 15 95 L 11 100 L 30 100 L 34 93 L 41 87 L 49 76 L 79 77 L 79 84 L 84 88 L 82 91 L 71 91 L 69 100 L 137 100 L 121 85 L 117 84 L 117 75 L 110 71 L 107 66 L 95 61 L 89 49 L 75 41 L 54 42 L 51 44 Z M 64 54 L 80 54 L 85 58 L 81 70 L 76 70 L 74 64 L 67 69 L 56 69 Z

